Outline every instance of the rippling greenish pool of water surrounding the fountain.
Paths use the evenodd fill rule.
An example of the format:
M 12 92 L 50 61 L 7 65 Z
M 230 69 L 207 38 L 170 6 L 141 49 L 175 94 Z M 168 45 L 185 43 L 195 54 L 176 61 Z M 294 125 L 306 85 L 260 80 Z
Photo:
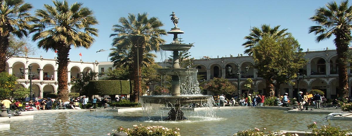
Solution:
M 168 110 L 161 114 L 145 117 L 143 111 L 111 112 L 105 110 L 66 110 L 57 113 L 38 113 L 34 120 L 11 121 L 11 129 L 1 131 L 0 136 L 104 136 L 119 126 L 132 128 L 133 125 L 161 125 L 180 128 L 182 136 L 232 136 L 245 129 L 266 128 L 267 130 L 309 131 L 307 125 L 328 123 L 322 118 L 326 114 L 297 114 L 284 110 L 234 107 L 214 109 L 216 117 L 205 117 L 203 111 L 187 111 L 189 120 L 162 121 Z M 165 115 L 166 114 L 166 115 Z M 349 128 L 352 121 L 332 120 L 333 126 Z

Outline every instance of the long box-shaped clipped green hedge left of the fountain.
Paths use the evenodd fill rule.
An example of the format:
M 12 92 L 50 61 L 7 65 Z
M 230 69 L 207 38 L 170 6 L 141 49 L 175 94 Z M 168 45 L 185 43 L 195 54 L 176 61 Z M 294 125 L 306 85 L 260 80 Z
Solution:
M 132 92 L 131 84 L 132 84 L 131 81 L 125 81 L 125 80 L 89 81 L 88 94 L 90 95 L 130 94 L 130 92 Z

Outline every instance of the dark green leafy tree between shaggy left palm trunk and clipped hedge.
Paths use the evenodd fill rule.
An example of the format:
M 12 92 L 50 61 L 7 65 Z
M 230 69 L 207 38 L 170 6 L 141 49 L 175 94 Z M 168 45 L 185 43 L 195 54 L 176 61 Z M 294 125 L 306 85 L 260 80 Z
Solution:
M 73 87 L 79 90 L 80 95 L 88 95 L 89 81 L 98 79 L 97 72 L 80 72 L 80 76 L 73 79 Z

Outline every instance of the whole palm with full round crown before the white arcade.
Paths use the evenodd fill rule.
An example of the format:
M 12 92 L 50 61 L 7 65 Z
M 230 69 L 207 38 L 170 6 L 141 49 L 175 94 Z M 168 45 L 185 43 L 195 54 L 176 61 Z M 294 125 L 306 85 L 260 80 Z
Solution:
M 58 60 L 58 96 L 68 100 L 68 55 L 71 46 L 75 48 L 89 48 L 95 41 L 92 35 L 98 36 L 98 29 L 91 26 L 98 21 L 82 3 L 68 5 L 68 1 L 53 1 L 54 7 L 44 5 L 44 9 L 37 9 L 35 15 L 40 19 L 34 25 L 35 32 L 32 40 L 38 42 L 38 47 L 48 52 L 57 50 Z

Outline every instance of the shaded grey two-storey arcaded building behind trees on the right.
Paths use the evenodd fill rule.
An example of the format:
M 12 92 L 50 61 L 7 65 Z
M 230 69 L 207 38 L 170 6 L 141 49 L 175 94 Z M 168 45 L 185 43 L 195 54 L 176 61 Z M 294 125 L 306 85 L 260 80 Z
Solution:
M 294 86 L 281 84 L 279 93 L 288 93 L 289 96 L 294 96 L 294 94 L 297 94 L 297 88 L 303 92 L 319 89 L 325 92 L 327 98 L 336 98 L 336 90 L 339 88 L 336 50 L 307 51 L 304 58 L 308 62 L 306 66 L 297 71 L 301 77 L 298 81 L 298 86 L 297 80 L 294 81 L 296 82 Z M 222 77 L 230 80 L 237 88 L 237 74 L 230 74 L 228 67 L 232 68 L 232 72 L 236 72 L 236 66 L 239 64 L 240 71 L 245 71 L 245 67 L 253 65 L 254 62 L 252 56 L 238 55 L 236 57 L 221 58 L 203 57 L 203 59 L 194 60 L 194 64 L 197 66 L 198 74 L 205 75 L 206 80 L 211 80 L 214 77 Z M 351 95 L 352 74 L 350 69 L 347 72 L 349 80 L 348 87 L 350 89 L 349 95 Z M 305 79 L 303 79 L 303 75 L 306 75 Z M 254 83 L 254 86 L 249 89 L 249 93 L 253 91 L 263 94 L 268 93 L 265 88 L 265 81 L 263 78 L 258 77 L 257 69 L 253 68 L 250 68 L 248 73 L 240 75 L 240 90 L 242 92 L 248 90 L 244 87 L 247 78 L 251 78 Z M 237 94 L 237 89 L 234 90 L 234 93 Z

